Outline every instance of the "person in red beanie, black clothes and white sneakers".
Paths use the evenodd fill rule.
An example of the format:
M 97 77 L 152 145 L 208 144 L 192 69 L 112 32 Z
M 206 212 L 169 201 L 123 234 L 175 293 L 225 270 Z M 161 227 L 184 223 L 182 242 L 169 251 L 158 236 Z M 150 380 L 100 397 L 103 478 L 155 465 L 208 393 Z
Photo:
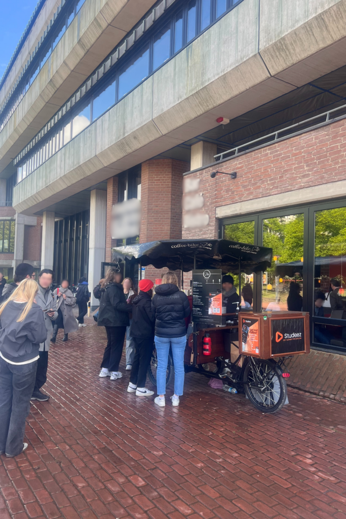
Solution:
M 150 397 L 154 391 L 145 387 L 148 366 L 154 349 L 155 322 L 151 311 L 153 296 L 153 281 L 142 279 L 139 284 L 139 294 L 132 301 L 132 323 L 130 336 L 133 339 L 135 354 L 130 373 L 129 393 L 137 397 Z

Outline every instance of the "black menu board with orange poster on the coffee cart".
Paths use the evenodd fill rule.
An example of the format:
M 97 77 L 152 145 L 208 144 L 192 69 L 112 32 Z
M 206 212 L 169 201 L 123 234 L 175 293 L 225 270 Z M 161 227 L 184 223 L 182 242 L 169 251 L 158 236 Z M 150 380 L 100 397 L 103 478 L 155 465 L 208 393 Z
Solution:
M 222 324 L 222 270 L 192 270 L 192 320 Z

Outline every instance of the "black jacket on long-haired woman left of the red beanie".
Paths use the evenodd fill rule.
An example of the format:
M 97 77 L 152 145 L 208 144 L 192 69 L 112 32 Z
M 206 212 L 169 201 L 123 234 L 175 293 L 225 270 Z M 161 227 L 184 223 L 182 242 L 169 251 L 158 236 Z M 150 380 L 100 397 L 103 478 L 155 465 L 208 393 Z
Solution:
M 129 326 L 132 305 L 126 302 L 121 283 L 108 283 L 100 289 L 98 326 Z

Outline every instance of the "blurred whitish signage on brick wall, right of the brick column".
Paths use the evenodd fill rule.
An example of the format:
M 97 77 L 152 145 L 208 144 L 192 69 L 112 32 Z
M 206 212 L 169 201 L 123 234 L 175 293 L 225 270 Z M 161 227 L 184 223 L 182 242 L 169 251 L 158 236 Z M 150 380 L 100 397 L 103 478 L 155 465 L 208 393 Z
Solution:
M 204 196 L 199 193 L 200 179 L 185 177 L 183 184 L 183 227 L 198 229 L 209 224 L 209 214 L 204 212 Z

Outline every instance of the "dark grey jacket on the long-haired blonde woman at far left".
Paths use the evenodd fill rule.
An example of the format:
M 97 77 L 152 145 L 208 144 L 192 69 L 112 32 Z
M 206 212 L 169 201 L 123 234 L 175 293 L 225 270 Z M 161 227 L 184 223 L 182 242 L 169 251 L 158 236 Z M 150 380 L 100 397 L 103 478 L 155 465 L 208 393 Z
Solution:
M 25 362 L 38 356 L 40 343 L 47 339 L 42 309 L 33 303 L 24 321 L 17 322 L 25 303 L 10 301 L 0 316 L 0 352 L 11 362 Z

